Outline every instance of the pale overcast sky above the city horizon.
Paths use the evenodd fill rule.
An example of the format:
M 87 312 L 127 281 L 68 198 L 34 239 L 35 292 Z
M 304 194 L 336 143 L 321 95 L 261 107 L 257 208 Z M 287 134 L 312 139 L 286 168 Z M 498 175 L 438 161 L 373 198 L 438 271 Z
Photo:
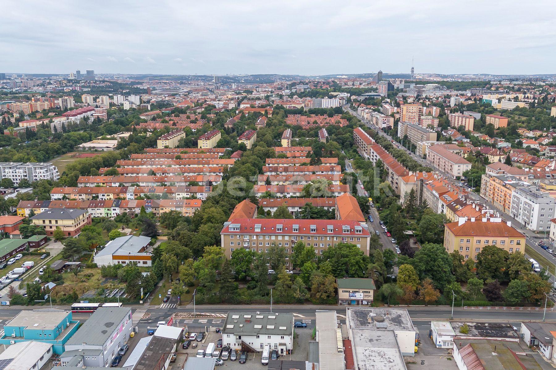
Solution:
M 556 73 L 554 0 L 2 0 L 0 72 Z

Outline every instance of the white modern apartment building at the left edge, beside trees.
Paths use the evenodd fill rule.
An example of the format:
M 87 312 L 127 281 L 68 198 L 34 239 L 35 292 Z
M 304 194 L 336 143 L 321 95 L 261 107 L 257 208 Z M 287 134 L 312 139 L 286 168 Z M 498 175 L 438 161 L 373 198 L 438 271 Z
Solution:
M 1 162 L 0 176 L 2 179 L 11 179 L 16 186 L 22 179 L 34 183 L 39 180 L 56 181 L 60 178 L 58 169 L 52 163 Z

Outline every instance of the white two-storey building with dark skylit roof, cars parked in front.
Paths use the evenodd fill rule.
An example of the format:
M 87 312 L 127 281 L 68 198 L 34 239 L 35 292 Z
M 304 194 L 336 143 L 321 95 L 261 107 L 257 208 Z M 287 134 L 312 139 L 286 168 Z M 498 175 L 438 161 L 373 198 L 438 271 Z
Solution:
M 229 312 L 222 328 L 222 345 L 250 347 L 257 352 L 267 346 L 283 355 L 292 349 L 293 334 L 292 313 Z

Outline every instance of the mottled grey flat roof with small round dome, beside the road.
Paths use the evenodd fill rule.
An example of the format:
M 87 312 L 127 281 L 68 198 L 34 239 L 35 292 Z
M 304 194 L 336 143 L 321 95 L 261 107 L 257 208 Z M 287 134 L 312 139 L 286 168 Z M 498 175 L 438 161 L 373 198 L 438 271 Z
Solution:
M 347 307 L 346 316 L 352 329 L 416 331 L 405 308 Z

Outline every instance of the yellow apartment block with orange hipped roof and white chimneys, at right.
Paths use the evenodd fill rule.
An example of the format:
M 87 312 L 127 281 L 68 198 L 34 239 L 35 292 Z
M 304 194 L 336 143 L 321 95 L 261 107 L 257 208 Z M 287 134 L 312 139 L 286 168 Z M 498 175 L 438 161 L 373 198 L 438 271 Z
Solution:
M 525 235 L 514 229 L 511 222 L 500 218 L 461 217 L 444 227 L 444 248 L 448 253 L 458 251 L 465 260 L 476 260 L 476 255 L 487 245 L 509 253 L 525 251 Z

